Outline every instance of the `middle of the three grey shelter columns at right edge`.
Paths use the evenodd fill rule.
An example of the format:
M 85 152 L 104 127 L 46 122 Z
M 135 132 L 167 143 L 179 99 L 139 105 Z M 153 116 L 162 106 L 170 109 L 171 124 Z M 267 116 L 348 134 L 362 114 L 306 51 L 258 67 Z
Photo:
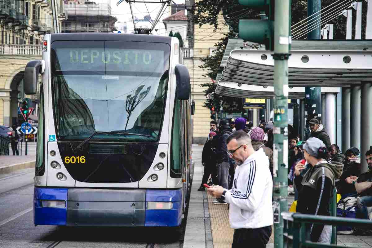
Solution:
M 350 146 L 360 150 L 360 85 L 351 87 L 350 105 Z

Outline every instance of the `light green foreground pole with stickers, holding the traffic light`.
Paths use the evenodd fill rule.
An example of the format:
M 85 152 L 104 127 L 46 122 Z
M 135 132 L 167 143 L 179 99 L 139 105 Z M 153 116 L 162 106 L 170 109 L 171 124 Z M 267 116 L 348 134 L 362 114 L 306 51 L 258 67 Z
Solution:
M 283 247 L 283 218 L 288 211 L 288 58 L 291 0 L 275 0 L 274 22 L 274 247 Z

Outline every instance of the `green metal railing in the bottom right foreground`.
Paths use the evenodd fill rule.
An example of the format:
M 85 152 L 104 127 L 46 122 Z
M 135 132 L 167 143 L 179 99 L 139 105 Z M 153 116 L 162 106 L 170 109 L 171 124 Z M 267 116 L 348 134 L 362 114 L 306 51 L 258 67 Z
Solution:
M 372 221 L 365 219 L 343 218 L 322 215 L 304 215 L 301 213 L 282 213 L 284 220 L 283 247 L 303 248 L 303 247 L 344 247 L 335 244 L 320 244 L 311 242 L 307 238 L 306 224 L 325 224 L 325 225 L 348 225 L 372 228 Z M 358 248 L 358 247 L 355 247 Z

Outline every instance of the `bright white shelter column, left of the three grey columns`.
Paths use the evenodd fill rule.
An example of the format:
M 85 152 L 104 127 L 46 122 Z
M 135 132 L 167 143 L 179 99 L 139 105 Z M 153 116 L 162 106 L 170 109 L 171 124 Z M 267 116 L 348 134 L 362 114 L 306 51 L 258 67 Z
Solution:
M 325 93 L 324 97 L 324 120 L 331 144 L 336 144 L 336 94 Z

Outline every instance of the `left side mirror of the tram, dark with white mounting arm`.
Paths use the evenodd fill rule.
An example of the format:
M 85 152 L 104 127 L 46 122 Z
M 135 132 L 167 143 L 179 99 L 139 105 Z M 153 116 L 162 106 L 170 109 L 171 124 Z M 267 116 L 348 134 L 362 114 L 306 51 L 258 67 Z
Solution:
M 39 73 L 44 73 L 45 61 L 41 59 L 31 60 L 25 68 L 25 94 L 35 95 L 38 88 Z

